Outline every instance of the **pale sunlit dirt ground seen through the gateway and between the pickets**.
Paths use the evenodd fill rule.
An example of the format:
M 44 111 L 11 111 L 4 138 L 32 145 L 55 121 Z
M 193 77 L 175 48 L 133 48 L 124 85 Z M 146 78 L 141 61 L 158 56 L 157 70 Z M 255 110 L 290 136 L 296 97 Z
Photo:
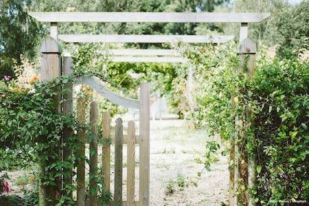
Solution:
M 219 160 L 211 166 L 211 171 L 203 170 L 203 146 L 207 141 L 205 130 L 189 129 L 187 123 L 179 119 L 151 121 L 150 128 L 150 205 L 215 206 L 227 202 L 229 184 L 227 157 L 218 155 Z M 135 200 L 138 199 L 138 147 L 136 153 Z M 125 162 L 126 155 L 124 155 L 123 171 L 124 200 L 126 200 Z M 198 176 L 198 172 L 201 172 L 201 176 Z M 112 186 L 113 172 L 111 173 Z M 34 177 L 30 172 L 9 172 L 9 175 L 11 195 L 23 195 L 23 191 L 31 190 Z M 111 191 L 113 192 L 113 186 Z

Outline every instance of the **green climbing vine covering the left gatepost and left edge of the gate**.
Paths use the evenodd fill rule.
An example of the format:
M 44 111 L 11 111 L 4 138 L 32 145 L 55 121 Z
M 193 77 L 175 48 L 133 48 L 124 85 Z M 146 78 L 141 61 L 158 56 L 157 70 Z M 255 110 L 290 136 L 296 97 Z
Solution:
M 0 170 L 10 166 L 11 159 L 17 156 L 19 161 L 27 161 L 27 165 L 38 163 L 41 189 L 46 190 L 48 195 L 59 189 L 61 191 L 61 194 L 55 195 L 55 199 L 47 199 L 47 202 L 52 205 L 73 205 L 69 194 L 76 190 L 76 185 L 65 183 L 61 187 L 62 176 L 72 175 L 78 161 L 88 162 L 87 157 L 77 155 L 76 151 L 81 149 L 77 133 L 85 130 L 88 142 L 94 137 L 90 126 L 79 124 L 73 113 L 65 115 L 55 109 L 66 98 L 67 89 L 64 85 L 73 79 L 62 76 L 50 82 L 37 80 L 37 77 L 30 80 L 30 88 L 20 87 L 14 80 L 0 82 Z M 71 131 L 71 136 L 63 139 L 64 130 Z M 65 148 L 70 148 L 72 155 L 62 159 Z M 20 168 L 27 166 L 17 161 L 13 163 Z M 103 192 L 99 177 L 92 178 L 98 179 L 98 188 L 93 190 L 100 192 L 99 199 L 104 203 L 109 199 L 109 194 Z

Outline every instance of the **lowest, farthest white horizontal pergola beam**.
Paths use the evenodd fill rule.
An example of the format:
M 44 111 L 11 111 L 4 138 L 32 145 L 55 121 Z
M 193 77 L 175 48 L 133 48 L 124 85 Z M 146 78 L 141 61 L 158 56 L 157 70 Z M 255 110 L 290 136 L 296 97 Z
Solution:
M 110 56 L 111 62 L 166 62 L 166 63 L 177 63 L 186 62 L 185 58 L 172 57 L 172 56 L 153 56 L 153 57 L 137 57 L 137 56 Z

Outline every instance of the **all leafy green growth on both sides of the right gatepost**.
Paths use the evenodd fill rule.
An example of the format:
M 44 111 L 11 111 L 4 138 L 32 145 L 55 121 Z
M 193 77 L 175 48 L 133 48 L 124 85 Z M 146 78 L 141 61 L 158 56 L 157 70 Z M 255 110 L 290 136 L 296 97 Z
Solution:
M 261 205 L 284 200 L 308 202 L 308 63 L 297 58 L 279 61 L 262 57 L 249 77 L 238 69 L 235 48 L 225 45 L 187 50 L 197 71 L 197 104 L 191 117 L 196 126 L 225 140 L 235 139 L 242 131 L 235 126 L 236 117 L 244 125 L 251 122 L 239 142 L 244 146 L 241 150 L 257 163 L 257 183 L 248 190 L 255 201 Z M 218 147 L 208 152 L 216 150 Z M 205 165 L 209 167 L 207 158 Z

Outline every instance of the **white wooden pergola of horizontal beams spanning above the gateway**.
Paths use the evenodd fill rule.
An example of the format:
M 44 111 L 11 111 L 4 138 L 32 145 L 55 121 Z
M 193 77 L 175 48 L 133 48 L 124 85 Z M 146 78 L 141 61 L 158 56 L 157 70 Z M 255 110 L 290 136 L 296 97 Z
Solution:
M 240 41 L 247 37 L 248 23 L 266 19 L 270 13 L 181 13 L 181 12 L 30 12 L 34 19 L 51 24 L 50 36 L 66 43 L 225 43 L 233 36 L 202 35 L 92 35 L 58 34 L 57 25 L 63 22 L 139 22 L 139 23 L 241 23 Z M 166 50 L 147 52 L 134 49 L 111 56 L 113 62 L 185 62 L 179 55 L 167 55 Z M 115 51 L 110 54 L 114 54 Z M 174 54 L 174 51 L 170 51 Z M 141 57 L 142 56 L 142 57 Z M 168 57 L 167 57 L 168 56 Z

